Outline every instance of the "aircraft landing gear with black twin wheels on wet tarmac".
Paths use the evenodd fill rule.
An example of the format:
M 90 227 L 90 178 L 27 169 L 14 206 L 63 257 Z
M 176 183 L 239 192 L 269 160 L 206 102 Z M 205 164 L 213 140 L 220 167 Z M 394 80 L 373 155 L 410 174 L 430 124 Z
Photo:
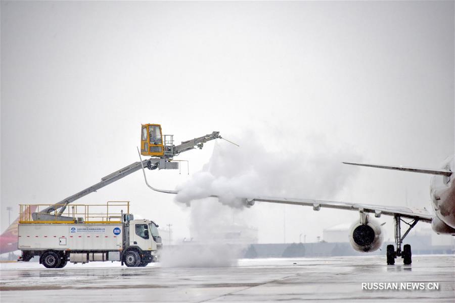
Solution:
M 405 244 L 403 246 L 403 251 L 401 251 L 401 244 L 403 243 L 404 238 L 411 231 L 411 229 L 413 229 L 413 227 L 416 226 L 417 222 L 419 222 L 419 219 L 413 219 L 413 221 L 408 223 L 408 222 L 404 221 L 403 219 L 401 219 L 400 215 L 395 215 L 393 218 L 395 220 L 396 251 L 395 251 L 393 245 L 387 245 L 387 265 L 394 265 L 396 257 L 401 257 L 403 259 L 404 265 L 410 265 L 411 263 L 413 263 L 411 245 Z M 401 222 L 404 222 L 409 226 L 403 236 L 401 236 L 401 226 L 400 226 Z

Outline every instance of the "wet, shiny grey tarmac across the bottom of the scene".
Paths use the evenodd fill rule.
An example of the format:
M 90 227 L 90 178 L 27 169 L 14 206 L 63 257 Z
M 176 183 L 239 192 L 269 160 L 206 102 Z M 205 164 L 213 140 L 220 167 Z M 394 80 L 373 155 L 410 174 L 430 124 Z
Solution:
M 7 263 L 0 269 L 2 303 L 455 301 L 453 255 L 413 256 L 409 266 L 401 260 L 388 266 L 384 256 L 366 256 L 241 259 L 234 267 L 213 268 L 163 268 L 159 263 L 126 268 L 98 262 L 63 269 Z M 388 282 L 399 288 L 362 289 L 362 283 L 394 285 Z M 432 289 L 435 285 L 438 290 Z

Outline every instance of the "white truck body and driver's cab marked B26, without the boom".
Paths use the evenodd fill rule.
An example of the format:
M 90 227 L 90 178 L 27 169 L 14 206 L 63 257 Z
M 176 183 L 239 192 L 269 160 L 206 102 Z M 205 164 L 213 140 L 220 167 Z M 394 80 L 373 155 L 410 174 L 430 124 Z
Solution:
M 138 267 L 157 260 L 162 245 L 157 224 L 150 220 L 133 220 L 131 214 L 113 211 L 118 207 L 129 209 L 129 202 L 110 201 L 105 205 L 107 213 L 90 212 L 100 207 L 73 205 L 66 217 L 73 218 L 72 221 L 46 222 L 30 220 L 31 214 L 27 212 L 30 208 L 21 205 L 20 260 L 29 261 L 39 256 L 39 263 L 47 268 L 62 268 L 68 261 L 120 261 L 122 265 Z

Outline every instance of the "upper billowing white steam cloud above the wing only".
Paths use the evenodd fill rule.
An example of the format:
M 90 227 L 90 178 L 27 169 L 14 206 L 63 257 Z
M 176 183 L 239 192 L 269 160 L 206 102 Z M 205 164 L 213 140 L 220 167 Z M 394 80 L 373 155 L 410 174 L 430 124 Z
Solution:
M 270 142 L 248 137 L 241 147 L 216 142 L 203 169 L 177 186 L 176 201 L 190 206 L 192 200 L 218 195 L 222 204 L 242 208 L 236 197 L 333 197 L 353 172 L 341 162 L 360 160 L 347 148 L 330 146 L 324 136 L 304 139 L 298 150 L 293 144 L 272 150 Z

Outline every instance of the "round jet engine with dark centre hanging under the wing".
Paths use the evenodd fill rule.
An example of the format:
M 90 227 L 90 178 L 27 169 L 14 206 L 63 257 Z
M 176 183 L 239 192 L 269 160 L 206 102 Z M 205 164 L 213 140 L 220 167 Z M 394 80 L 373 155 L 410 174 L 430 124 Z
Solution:
M 375 251 L 381 247 L 383 234 L 381 226 L 375 220 L 369 219 L 354 222 L 349 232 L 349 241 L 357 251 Z

